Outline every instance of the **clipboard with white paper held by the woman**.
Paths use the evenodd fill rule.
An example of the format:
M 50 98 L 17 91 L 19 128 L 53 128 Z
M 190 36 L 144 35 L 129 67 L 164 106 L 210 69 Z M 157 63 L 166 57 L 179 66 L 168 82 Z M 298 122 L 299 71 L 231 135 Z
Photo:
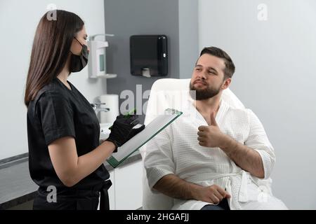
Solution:
M 117 148 L 117 153 L 112 153 L 110 158 L 107 159 L 107 162 L 114 168 L 118 167 L 124 160 L 129 158 L 130 155 L 146 144 L 147 141 L 150 141 L 150 139 L 170 125 L 173 120 L 176 120 L 183 114 L 183 112 L 175 109 L 166 109 L 164 112 L 164 114 L 154 118 L 143 131 L 139 132 L 136 136 L 129 139 L 129 141 L 126 141 L 124 145 Z

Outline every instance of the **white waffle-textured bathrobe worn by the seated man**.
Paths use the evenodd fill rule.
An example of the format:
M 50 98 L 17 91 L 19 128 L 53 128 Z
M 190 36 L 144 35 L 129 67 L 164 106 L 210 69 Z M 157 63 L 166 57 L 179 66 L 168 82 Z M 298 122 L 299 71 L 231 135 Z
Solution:
M 190 104 L 182 116 L 147 143 L 144 165 L 150 188 L 166 174 L 176 174 L 191 183 L 226 189 L 232 195 L 228 200 L 230 209 L 287 209 L 272 196 L 270 174 L 275 153 L 256 115 L 249 109 L 232 108 L 222 100 L 216 122 L 223 133 L 258 151 L 265 179 L 238 167 L 220 148 L 199 146 L 198 127 L 207 123 Z M 210 203 L 174 200 L 173 204 L 173 209 L 202 209 Z

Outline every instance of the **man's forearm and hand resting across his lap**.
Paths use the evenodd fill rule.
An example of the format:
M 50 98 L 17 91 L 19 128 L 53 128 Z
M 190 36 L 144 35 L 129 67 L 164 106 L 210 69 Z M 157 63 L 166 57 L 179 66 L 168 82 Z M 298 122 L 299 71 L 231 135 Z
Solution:
M 182 200 L 198 200 L 218 204 L 223 198 L 230 198 L 230 195 L 223 188 L 216 186 L 199 186 L 180 179 L 175 174 L 168 174 L 159 179 L 153 187 L 155 190 L 168 195 L 169 197 Z

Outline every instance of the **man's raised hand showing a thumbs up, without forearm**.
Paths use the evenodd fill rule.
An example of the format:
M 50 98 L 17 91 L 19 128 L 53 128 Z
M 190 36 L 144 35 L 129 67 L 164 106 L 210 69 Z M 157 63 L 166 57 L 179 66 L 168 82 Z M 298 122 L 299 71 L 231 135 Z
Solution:
M 222 148 L 225 146 L 228 137 L 220 131 L 214 116 L 214 111 L 211 113 L 211 124 L 209 126 L 199 126 L 197 132 L 197 140 L 200 146 L 210 148 Z

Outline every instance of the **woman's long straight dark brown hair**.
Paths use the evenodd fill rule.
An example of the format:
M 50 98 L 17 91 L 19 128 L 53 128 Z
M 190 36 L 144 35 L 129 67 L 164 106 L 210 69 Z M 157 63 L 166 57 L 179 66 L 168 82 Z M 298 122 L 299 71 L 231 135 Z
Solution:
M 72 40 L 84 27 L 84 21 L 74 13 L 56 10 L 56 15 L 56 20 L 48 20 L 45 13 L 37 26 L 25 86 L 26 106 L 62 71 Z

